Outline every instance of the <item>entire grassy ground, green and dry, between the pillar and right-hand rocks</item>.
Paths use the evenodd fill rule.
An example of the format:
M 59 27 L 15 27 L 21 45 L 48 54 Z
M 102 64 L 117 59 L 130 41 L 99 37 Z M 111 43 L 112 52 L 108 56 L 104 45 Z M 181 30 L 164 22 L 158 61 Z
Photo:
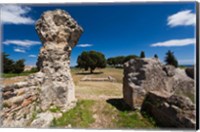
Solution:
M 132 111 L 123 102 L 123 69 L 97 69 L 94 74 L 90 74 L 72 68 L 71 73 L 78 99 L 77 106 L 63 113 L 62 117 L 54 119 L 51 127 L 156 128 L 151 118 L 143 116 L 140 111 Z M 80 81 L 85 76 L 95 78 L 112 76 L 116 82 Z

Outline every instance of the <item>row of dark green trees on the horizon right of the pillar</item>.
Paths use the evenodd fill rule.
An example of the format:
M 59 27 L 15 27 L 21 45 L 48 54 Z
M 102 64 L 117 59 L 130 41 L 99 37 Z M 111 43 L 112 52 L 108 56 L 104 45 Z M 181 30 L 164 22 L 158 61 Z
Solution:
M 140 56 L 116 56 L 110 57 L 106 60 L 104 54 L 101 52 L 83 51 L 81 55 L 78 56 L 77 67 L 82 68 L 85 71 L 90 70 L 90 72 L 93 73 L 96 68 L 105 68 L 106 65 L 113 66 L 115 68 L 122 68 L 125 62 L 135 58 L 145 58 L 145 52 L 141 51 Z M 158 59 L 158 55 L 154 54 L 154 58 Z M 178 61 L 174 56 L 174 53 L 170 50 L 166 53 L 165 62 L 168 65 L 178 67 Z

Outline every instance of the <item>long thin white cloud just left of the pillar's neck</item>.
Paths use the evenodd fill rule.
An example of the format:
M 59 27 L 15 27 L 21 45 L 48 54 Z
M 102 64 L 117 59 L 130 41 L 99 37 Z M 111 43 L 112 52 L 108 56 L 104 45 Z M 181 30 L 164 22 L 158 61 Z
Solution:
M 32 40 L 6 40 L 3 42 L 5 45 L 17 45 L 17 46 L 22 46 L 22 47 L 30 47 L 33 45 L 39 45 L 41 44 L 39 41 L 32 41 Z

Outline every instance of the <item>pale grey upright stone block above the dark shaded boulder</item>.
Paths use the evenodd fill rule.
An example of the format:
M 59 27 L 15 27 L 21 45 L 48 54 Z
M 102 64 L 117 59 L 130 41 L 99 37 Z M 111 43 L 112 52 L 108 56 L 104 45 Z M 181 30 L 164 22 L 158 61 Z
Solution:
M 129 106 L 140 108 L 152 90 L 194 97 L 194 80 L 183 69 L 162 65 L 155 58 L 131 59 L 124 64 L 123 96 Z

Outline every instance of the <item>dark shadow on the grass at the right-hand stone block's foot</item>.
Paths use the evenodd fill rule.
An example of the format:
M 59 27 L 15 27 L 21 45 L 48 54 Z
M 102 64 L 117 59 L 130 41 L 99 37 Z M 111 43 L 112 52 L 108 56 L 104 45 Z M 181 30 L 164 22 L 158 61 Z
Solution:
M 131 107 L 123 99 L 113 98 L 106 100 L 106 102 L 116 107 L 119 111 L 132 111 Z

